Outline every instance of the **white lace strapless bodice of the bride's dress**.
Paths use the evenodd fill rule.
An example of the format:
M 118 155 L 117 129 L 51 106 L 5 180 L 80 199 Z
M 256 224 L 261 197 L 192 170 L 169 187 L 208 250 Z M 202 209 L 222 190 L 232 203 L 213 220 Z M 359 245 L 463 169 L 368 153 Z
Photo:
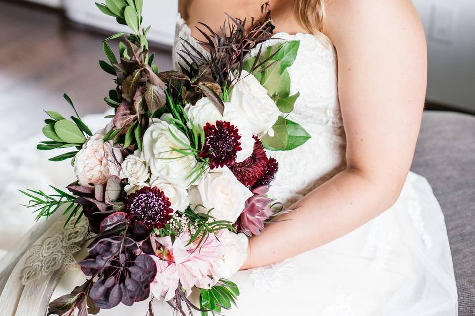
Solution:
M 196 49 L 206 51 L 193 39 L 191 30 L 179 16 L 176 28 L 174 65 L 185 39 Z M 312 136 L 292 151 L 269 152 L 279 162 L 269 195 L 289 206 L 319 186 L 345 166 L 345 137 L 338 101 L 336 51 L 330 41 L 313 34 L 276 33 L 262 45 L 299 40 L 295 62 L 288 68 L 290 93 L 300 92 L 295 109 L 288 116 Z M 250 52 L 253 56 L 258 48 Z

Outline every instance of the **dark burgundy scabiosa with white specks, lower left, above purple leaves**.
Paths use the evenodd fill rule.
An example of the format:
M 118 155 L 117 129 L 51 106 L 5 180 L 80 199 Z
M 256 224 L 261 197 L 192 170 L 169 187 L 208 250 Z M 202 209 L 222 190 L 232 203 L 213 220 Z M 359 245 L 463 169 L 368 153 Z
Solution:
M 149 229 L 163 227 L 173 210 L 170 200 L 157 187 L 143 187 L 129 194 L 125 202 L 129 219 L 142 221 Z

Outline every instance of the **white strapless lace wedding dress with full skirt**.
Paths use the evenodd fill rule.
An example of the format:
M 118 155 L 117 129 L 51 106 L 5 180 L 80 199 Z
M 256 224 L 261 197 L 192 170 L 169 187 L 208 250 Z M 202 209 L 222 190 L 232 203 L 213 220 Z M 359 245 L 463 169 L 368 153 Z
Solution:
M 182 38 L 205 53 L 190 33 L 179 18 L 175 62 Z M 278 33 L 274 38 L 263 45 L 300 40 L 296 60 L 288 68 L 291 94 L 300 92 L 289 118 L 312 136 L 295 150 L 270 152 L 279 171 L 269 195 L 288 206 L 345 168 L 345 134 L 332 44 L 304 33 Z M 67 269 L 74 265 L 72 256 L 81 255 L 77 251 L 84 223 L 67 231 L 55 225 L 59 224 L 37 228 L 44 233 L 39 238 L 29 235 L 37 236 L 35 245 L 26 250 L 28 242 L 35 241 L 26 239 L 0 265 L 5 269 L 0 274 L 2 316 L 44 315 L 54 288 L 52 299 L 84 282 L 79 270 Z M 412 172 L 397 202 L 380 216 L 324 246 L 271 266 L 240 271 L 232 280 L 241 294 L 238 308 L 224 312 L 229 316 L 457 315 L 444 216 L 427 180 Z M 144 301 L 101 310 L 99 316 L 145 315 L 147 309 Z M 166 303 L 156 300 L 154 312 L 172 315 Z

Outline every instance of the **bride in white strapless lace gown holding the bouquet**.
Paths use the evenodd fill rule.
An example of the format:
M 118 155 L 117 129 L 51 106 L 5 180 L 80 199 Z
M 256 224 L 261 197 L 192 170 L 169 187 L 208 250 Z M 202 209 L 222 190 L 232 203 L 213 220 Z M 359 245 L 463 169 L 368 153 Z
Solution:
M 427 180 L 409 171 L 427 79 L 424 32 L 411 1 L 269 2 L 276 29 L 263 45 L 300 41 L 288 69 L 292 94 L 300 92 L 290 118 L 312 138 L 270 152 L 280 168 L 269 195 L 295 211 L 250 238 L 247 261 L 232 279 L 239 308 L 225 314 L 457 315 L 444 217 Z M 218 30 L 223 12 L 250 18 L 260 4 L 179 1 L 175 61 L 183 40 L 206 53 L 195 40 L 198 21 Z M 44 315 L 54 288 L 52 299 L 84 281 L 77 270 L 62 276 L 56 268 L 33 285 L 23 275 L 21 285 L 24 257 L 1 266 L 2 316 Z M 147 309 L 141 302 L 99 315 Z M 172 313 L 160 302 L 154 312 Z

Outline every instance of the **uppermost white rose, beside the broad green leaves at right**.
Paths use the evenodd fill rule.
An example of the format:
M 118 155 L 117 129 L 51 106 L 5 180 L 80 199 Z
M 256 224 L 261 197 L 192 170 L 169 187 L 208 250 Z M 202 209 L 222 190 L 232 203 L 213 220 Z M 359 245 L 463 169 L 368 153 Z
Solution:
M 247 119 L 253 135 L 263 136 L 268 131 L 272 133 L 271 127 L 280 112 L 254 76 L 243 70 L 241 79 L 231 91 L 229 101 Z

